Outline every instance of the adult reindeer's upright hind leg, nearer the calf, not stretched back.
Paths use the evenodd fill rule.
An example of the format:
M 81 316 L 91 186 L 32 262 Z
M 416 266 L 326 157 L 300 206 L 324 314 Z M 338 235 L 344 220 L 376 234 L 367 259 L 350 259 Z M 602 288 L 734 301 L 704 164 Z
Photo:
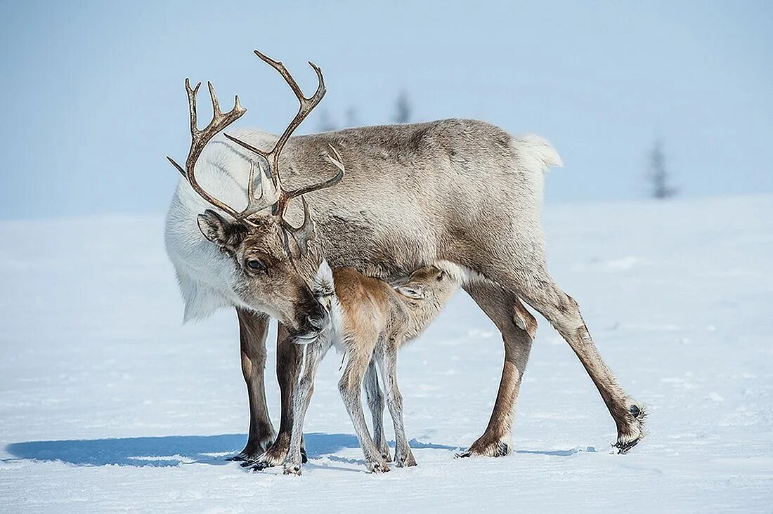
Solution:
M 490 282 L 475 281 L 465 285 L 475 303 L 494 322 L 505 344 L 505 363 L 489 425 L 478 440 L 461 457 L 484 455 L 499 457 L 511 451 L 510 434 L 523 372 L 529 360 L 536 319 L 523 307 L 515 294 Z

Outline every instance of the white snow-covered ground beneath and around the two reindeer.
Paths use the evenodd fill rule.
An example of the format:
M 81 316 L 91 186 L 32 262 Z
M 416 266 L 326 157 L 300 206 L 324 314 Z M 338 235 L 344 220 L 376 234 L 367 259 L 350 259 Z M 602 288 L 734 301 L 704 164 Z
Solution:
M 770 512 L 773 197 L 550 206 L 545 226 L 553 276 L 647 405 L 648 437 L 611 454 L 604 403 L 540 318 L 514 454 L 454 458 L 502 364 L 460 294 L 400 356 L 418 467 L 366 474 L 331 354 L 298 478 L 225 460 L 247 429 L 235 315 L 181 326 L 160 216 L 0 223 L 0 511 Z

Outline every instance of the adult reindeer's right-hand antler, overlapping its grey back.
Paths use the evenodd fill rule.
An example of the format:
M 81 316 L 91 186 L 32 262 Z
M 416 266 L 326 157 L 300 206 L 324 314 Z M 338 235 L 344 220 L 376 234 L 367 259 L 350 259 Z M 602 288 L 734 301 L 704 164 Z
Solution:
M 288 72 L 288 69 L 284 67 L 284 64 L 281 63 L 281 61 L 275 61 L 271 59 L 271 57 L 265 56 L 257 50 L 255 50 L 255 55 L 260 57 L 264 63 L 267 63 L 272 68 L 274 68 L 274 70 L 277 70 L 282 78 L 284 78 L 284 81 L 288 83 L 290 89 L 293 91 L 293 93 L 295 93 L 295 97 L 298 98 L 298 113 L 295 114 L 295 117 L 292 119 L 290 124 L 288 124 L 288 127 L 284 129 L 284 132 L 282 132 L 281 136 L 274 145 L 274 148 L 271 148 L 271 151 L 263 151 L 260 148 L 255 148 L 253 145 L 241 141 L 240 139 L 234 138 L 229 134 L 225 134 L 225 136 L 234 143 L 237 143 L 237 145 L 240 145 L 241 147 L 246 148 L 247 150 L 252 151 L 266 159 L 266 162 L 268 162 L 268 165 L 271 168 L 271 178 L 274 182 L 274 192 L 276 192 L 278 195 L 277 202 L 274 205 L 274 213 L 278 216 L 284 216 L 284 212 L 287 210 L 288 203 L 291 199 L 295 198 L 296 196 L 305 195 L 308 192 L 317 191 L 318 189 L 325 189 L 330 186 L 335 186 L 335 184 L 340 182 L 340 180 L 343 178 L 345 170 L 341 162 L 341 156 L 339 155 L 338 151 L 335 151 L 335 148 L 333 148 L 337 160 L 333 159 L 329 155 L 328 158 L 331 162 L 333 162 L 336 168 L 339 168 L 339 172 L 335 176 L 329 180 L 326 180 L 325 182 L 311 184 L 309 186 L 304 186 L 298 189 L 288 190 L 282 188 L 281 176 L 279 175 L 279 155 L 281 154 L 282 148 L 284 148 L 285 143 L 287 143 L 292 133 L 296 128 L 298 128 L 298 125 L 300 125 L 306 119 L 306 117 L 308 117 L 308 114 L 311 114 L 312 110 L 314 110 L 314 107 L 317 107 L 319 102 L 322 101 L 322 97 L 325 96 L 325 77 L 322 77 L 322 70 L 319 69 L 319 66 L 317 66 L 315 63 L 312 63 L 312 61 L 308 61 L 309 66 L 312 66 L 314 71 L 317 73 L 318 83 L 315 93 L 311 97 L 307 98 L 304 96 L 303 91 L 301 91 L 301 87 L 298 86 L 298 83 L 295 82 L 295 79 L 292 77 L 290 72 Z M 301 227 L 302 226 L 305 226 L 305 219 L 304 225 L 301 225 Z

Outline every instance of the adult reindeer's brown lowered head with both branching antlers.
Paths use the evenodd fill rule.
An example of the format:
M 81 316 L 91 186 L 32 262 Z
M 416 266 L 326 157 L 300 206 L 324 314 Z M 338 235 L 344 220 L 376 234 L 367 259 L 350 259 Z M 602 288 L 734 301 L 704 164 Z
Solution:
M 209 195 L 196 181 L 194 172 L 196 161 L 206 144 L 247 111 L 240 106 L 239 97 L 236 97 L 233 109 L 223 113 L 220 111 L 220 104 L 212 84 L 207 83 L 209 96 L 212 99 L 213 119 L 206 128 L 199 130 L 196 122 L 196 93 L 201 83 L 196 87 L 190 87 L 190 82 L 186 79 L 191 148 L 185 168 L 172 158 L 169 158 L 169 162 L 172 162 L 199 196 L 220 211 L 206 209 L 204 213 L 199 214 L 199 230 L 209 242 L 216 244 L 230 257 L 236 277 L 233 292 L 237 294 L 240 302 L 254 311 L 278 318 L 288 325 L 295 335 L 312 335 L 318 331 L 316 323 L 323 317 L 323 313 L 322 306 L 312 294 L 309 284 L 321 258 L 314 250 L 315 226 L 304 195 L 334 186 L 340 182 L 346 170 L 338 151 L 330 147 L 332 155 L 327 153 L 326 157 L 335 165 L 335 168 L 338 168 L 338 172 L 331 179 L 298 189 L 282 187 L 279 172 L 281 150 L 295 128 L 298 128 L 298 125 L 322 100 L 325 95 L 325 81 L 322 71 L 310 62 L 309 64 L 317 73 L 318 87 L 315 94 L 307 98 L 281 62 L 271 60 L 257 50 L 255 54 L 284 77 L 298 97 L 300 107 L 298 114 L 281 134 L 271 151 L 262 151 L 225 134 L 226 138 L 259 156 L 257 177 L 256 162 L 250 162 L 247 206 L 242 211 L 237 211 Z M 264 171 L 263 162 L 266 163 L 266 171 Z M 255 196 L 254 193 L 256 179 L 261 185 L 260 196 Z M 295 197 L 300 197 L 303 204 L 304 218 L 300 226 L 293 226 L 284 219 L 288 205 Z

